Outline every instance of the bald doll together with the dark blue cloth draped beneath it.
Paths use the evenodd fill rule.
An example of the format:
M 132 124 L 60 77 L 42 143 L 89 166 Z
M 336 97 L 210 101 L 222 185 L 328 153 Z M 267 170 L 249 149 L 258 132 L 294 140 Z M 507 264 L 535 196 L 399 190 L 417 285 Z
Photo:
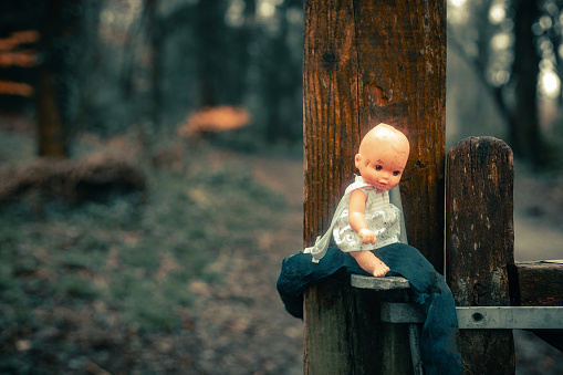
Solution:
M 354 158 L 359 176 L 346 188 L 327 232 L 285 258 L 277 289 L 285 310 L 303 319 L 303 293 L 336 273 L 402 275 L 426 313 L 420 352 L 426 374 L 460 374 L 456 304 L 444 277 L 399 240 L 400 210 L 389 201 L 409 154 L 407 137 L 386 124 L 371 129 Z M 330 246 L 334 238 L 336 247 Z

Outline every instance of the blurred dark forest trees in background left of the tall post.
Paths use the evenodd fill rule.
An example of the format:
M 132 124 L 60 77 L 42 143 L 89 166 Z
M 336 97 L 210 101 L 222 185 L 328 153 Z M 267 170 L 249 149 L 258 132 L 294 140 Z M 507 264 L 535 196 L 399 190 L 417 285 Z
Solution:
M 174 133 L 204 107 L 231 105 L 250 112 L 254 138 L 301 139 L 301 1 L 63 1 L 58 9 L 45 3 L 2 2 L 0 20 L 10 22 L 0 28 L 0 38 L 42 30 L 46 8 L 80 22 L 69 31 L 72 38 L 42 35 L 38 65 L 64 62 L 49 69 L 70 135 L 136 128 L 150 137 Z M 0 69 L 2 77 L 37 83 L 29 66 Z M 2 110 L 35 111 L 30 98 L 0 97 Z M 70 146 L 75 149 L 72 140 Z

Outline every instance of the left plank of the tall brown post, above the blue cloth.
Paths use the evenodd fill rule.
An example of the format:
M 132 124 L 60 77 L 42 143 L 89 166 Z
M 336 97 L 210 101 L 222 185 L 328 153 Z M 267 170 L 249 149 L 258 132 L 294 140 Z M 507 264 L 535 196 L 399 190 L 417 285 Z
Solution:
M 332 219 L 359 145 L 357 50 L 352 1 L 305 1 L 304 238 Z

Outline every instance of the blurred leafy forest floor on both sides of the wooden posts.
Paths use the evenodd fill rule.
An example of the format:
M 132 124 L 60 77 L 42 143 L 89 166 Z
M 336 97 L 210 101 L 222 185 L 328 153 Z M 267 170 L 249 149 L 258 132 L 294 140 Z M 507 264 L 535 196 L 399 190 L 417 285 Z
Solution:
M 15 137 L 13 133 L 9 136 Z M 28 140 L 31 143 L 31 139 Z M 18 152 L 33 148 L 27 143 L 25 145 L 19 147 Z M 6 312 L 7 302 L 0 301 L 4 311 L 0 312 L 1 373 L 209 375 L 303 373 L 302 322 L 284 311 L 275 291 L 275 280 L 282 259 L 302 248 L 303 187 L 300 156 L 288 156 L 283 153 L 248 154 L 206 146 L 200 153 L 190 152 L 181 159 L 187 160 L 187 164 L 180 166 L 180 175 L 191 176 L 191 179 L 186 178 L 185 183 L 186 189 L 189 190 L 189 199 L 192 204 L 199 205 L 192 206 L 192 209 L 206 211 L 209 216 L 215 215 L 216 210 L 219 210 L 219 217 L 232 216 L 232 210 L 225 206 L 229 200 L 220 200 L 216 196 L 222 194 L 220 188 L 232 189 L 231 179 L 237 179 L 234 187 L 240 187 L 241 190 L 244 190 L 247 185 L 252 186 L 250 197 L 258 196 L 259 204 L 254 205 L 252 199 L 247 199 L 248 191 L 241 192 L 240 197 L 228 196 L 229 199 L 241 198 L 250 206 L 236 207 L 236 211 L 239 212 L 234 218 L 236 222 L 218 219 L 217 230 L 227 231 L 227 236 L 232 239 L 220 237 L 225 233 L 216 233 L 216 228 L 199 228 L 197 232 L 191 233 L 191 239 L 209 239 L 209 244 L 208 248 L 205 246 L 201 248 L 208 251 L 207 259 L 198 263 L 201 264 L 199 268 L 206 271 L 198 273 L 198 277 L 185 277 L 183 279 L 185 283 L 180 284 L 180 288 L 189 292 L 189 303 L 170 306 L 166 301 L 152 300 L 148 294 L 146 299 L 140 296 L 136 300 L 137 303 L 146 301 L 147 304 L 158 304 L 160 301 L 163 305 L 157 305 L 156 309 L 174 310 L 176 316 L 180 317 L 180 325 L 165 324 L 164 329 L 143 329 L 142 323 L 131 323 L 122 313 L 118 298 L 110 299 L 105 293 L 88 292 L 80 294 L 80 299 L 76 299 L 76 295 L 69 294 L 67 290 L 65 293 L 61 293 L 60 289 L 40 292 L 39 290 L 48 282 L 60 280 L 49 275 L 46 265 L 38 265 L 42 260 L 51 259 L 48 257 L 49 249 L 39 249 L 39 246 L 30 244 L 20 237 L 3 233 L 0 238 L 3 242 L 0 242 L 0 246 L 8 244 L 20 257 L 22 252 L 30 252 L 35 263 L 32 267 L 25 265 L 25 272 L 13 271 L 17 269 L 15 265 L 12 269 L 3 265 L 4 268 L 0 270 L 2 299 L 9 295 L 9 292 L 25 293 L 32 290 L 39 295 L 40 302 L 28 302 L 32 308 L 31 317 L 20 319 L 9 316 Z M 174 169 L 174 165 L 171 163 L 168 167 L 171 166 Z M 220 173 L 209 177 L 206 175 L 206 169 L 209 168 Z M 190 185 L 196 184 L 197 179 L 194 179 L 196 175 L 207 176 L 204 183 L 204 183 L 200 186 Z M 239 175 L 242 176 L 242 180 Z M 158 176 L 165 178 L 163 174 Z M 213 185 L 217 190 L 213 190 Z M 563 258 L 560 246 L 563 243 L 563 233 L 560 229 L 563 223 L 561 180 L 517 174 L 514 187 L 517 260 Z M 209 191 L 212 194 L 207 194 Z M 269 192 L 261 196 L 262 189 Z M 532 204 L 530 197 L 539 195 L 543 195 L 545 199 Z M 216 198 L 223 205 L 222 207 L 212 206 Z M 181 199 L 177 201 L 179 205 Z M 112 206 L 111 209 L 121 207 Z M 220 213 L 221 209 L 225 210 L 223 213 Z M 185 213 L 191 215 L 189 209 Z M 7 217 L 10 216 L 3 216 L 3 219 Z M 248 221 L 248 225 L 244 225 L 244 221 Z M 61 226 L 50 227 L 44 218 L 39 221 L 25 219 L 18 225 L 20 223 L 32 227 L 35 237 L 38 232 L 50 235 L 50 231 L 61 229 Z M 206 222 L 198 216 L 191 225 L 207 227 L 216 223 Z M 186 228 L 186 231 L 188 229 L 191 230 Z M 183 229 L 179 227 L 175 230 Z M 240 235 L 237 231 L 244 233 Z M 148 233 L 150 230 L 136 228 L 124 231 L 123 233 L 127 236 L 124 246 L 131 247 L 132 242 L 138 242 L 142 236 L 139 232 Z M 108 236 L 107 231 L 103 233 Z M 169 231 L 166 233 L 171 236 Z M 216 235 L 220 235 L 221 241 L 213 240 L 212 236 Z M 79 241 L 76 235 L 70 237 Z M 108 237 L 107 241 L 112 240 L 119 244 L 119 239 Z M 160 240 L 167 239 L 159 238 L 154 241 L 158 243 Z M 18 241 L 24 246 L 15 243 Z M 42 247 L 44 246 L 43 243 Z M 87 251 L 92 251 L 88 249 Z M 147 249 L 156 251 L 158 248 Z M 110 280 L 111 269 L 134 274 L 140 268 L 137 267 L 133 271 L 126 268 L 123 259 L 121 262 L 114 259 L 117 251 L 119 250 L 110 244 L 107 252 L 103 253 L 105 257 L 103 272 Z M 165 252 L 163 257 L 164 260 L 158 259 L 158 267 L 153 267 L 153 273 L 143 274 L 145 279 L 163 274 L 163 278 L 167 278 L 175 272 L 177 264 L 166 260 L 171 259 L 169 257 L 178 259 L 180 256 L 176 252 Z M 152 261 L 154 260 L 147 260 L 147 264 Z M 129 258 L 129 262 L 135 263 L 138 260 Z M 55 271 L 69 272 L 69 264 L 62 264 L 64 268 Z M 23 265 L 18 267 L 21 271 Z M 145 264 L 147 269 L 150 267 Z M 96 285 L 100 283 L 98 278 L 94 275 L 95 267 L 83 267 L 80 271 L 81 278 L 91 278 L 88 280 L 93 280 Z M 13 287 L 15 284 L 12 285 L 7 281 L 8 275 L 27 278 L 27 283 L 18 289 Z M 41 281 L 39 284 L 38 280 Z M 103 282 L 101 284 L 104 285 Z M 178 284 L 149 284 L 146 291 L 157 294 L 154 288 L 158 285 L 178 288 Z M 131 285 L 133 290 L 134 287 Z M 127 293 L 127 290 L 124 292 Z M 53 296 L 48 298 L 49 293 L 53 293 Z M 124 295 L 122 294 L 123 299 Z M 11 294 L 10 299 L 21 301 Z M 533 334 L 515 331 L 514 336 L 518 374 L 563 374 L 563 353 Z

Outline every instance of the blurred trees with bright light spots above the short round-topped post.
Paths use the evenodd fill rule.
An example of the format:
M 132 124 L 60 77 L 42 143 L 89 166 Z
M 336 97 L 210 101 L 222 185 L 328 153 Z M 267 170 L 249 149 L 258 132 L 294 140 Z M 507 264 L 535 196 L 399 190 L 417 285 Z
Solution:
M 535 170 L 561 168 L 562 14 L 561 0 L 448 1 L 449 145 L 494 135 Z

